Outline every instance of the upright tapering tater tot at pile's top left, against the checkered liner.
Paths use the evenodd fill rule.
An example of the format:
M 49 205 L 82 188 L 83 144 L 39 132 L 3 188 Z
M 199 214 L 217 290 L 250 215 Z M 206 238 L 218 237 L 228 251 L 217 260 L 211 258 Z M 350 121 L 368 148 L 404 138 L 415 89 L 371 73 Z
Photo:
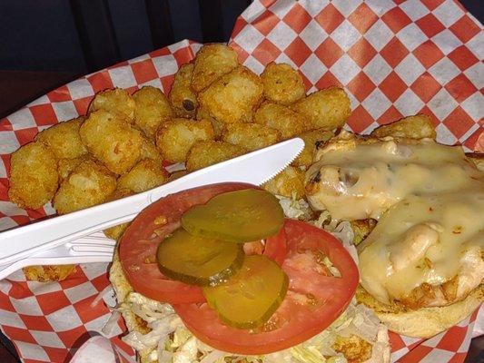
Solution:
M 173 117 L 172 106 L 168 98 L 159 88 L 147 85 L 133 93 L 133 100 L 136 104 L 134 124 L 148 138 L 154 140 L 158 127 Z

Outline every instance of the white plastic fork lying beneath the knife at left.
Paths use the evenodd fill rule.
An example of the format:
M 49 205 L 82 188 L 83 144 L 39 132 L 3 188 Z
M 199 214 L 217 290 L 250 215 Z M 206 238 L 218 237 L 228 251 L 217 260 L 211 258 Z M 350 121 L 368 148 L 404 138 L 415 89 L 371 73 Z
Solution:
M 27 266 L 111 262 L 115 246 L 115 240 L 105 237 L 103 232 L 95 232 L 51 249 L 40 250 L 25 259 L 0 264 L 0 280 Z

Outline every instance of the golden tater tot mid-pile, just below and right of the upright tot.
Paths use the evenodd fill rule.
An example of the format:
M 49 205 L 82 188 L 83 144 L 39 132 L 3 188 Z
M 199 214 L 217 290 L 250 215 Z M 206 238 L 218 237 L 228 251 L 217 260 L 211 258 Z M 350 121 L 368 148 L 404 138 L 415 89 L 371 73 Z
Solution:
M 213 126 L 208 120 L 173 119 L 158 129 L 156 147 L 169 162 L 185 162 L 197 141 L 213 140 Z

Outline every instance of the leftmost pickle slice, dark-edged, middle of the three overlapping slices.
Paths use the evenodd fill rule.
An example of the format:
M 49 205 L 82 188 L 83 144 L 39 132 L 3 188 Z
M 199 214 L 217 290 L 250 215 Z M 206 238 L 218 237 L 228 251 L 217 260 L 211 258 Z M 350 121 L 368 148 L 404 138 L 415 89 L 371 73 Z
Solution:
M 224 282 L 241 269 L 244 256 L 242 245 L 193 236 L 182 228 L 164 239 L 156 251 L 164 275 L 198 286 Z

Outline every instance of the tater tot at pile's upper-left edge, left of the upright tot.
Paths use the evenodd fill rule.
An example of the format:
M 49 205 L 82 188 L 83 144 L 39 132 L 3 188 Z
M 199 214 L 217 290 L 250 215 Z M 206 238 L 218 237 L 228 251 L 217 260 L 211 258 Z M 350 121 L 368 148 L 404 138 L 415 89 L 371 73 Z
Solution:
M 134 122 L 135 103 L 133 97 L 121 88 L 96 93 L 89 105 L 88 113 L 104 110 L 113 113 L 127 123 Z

